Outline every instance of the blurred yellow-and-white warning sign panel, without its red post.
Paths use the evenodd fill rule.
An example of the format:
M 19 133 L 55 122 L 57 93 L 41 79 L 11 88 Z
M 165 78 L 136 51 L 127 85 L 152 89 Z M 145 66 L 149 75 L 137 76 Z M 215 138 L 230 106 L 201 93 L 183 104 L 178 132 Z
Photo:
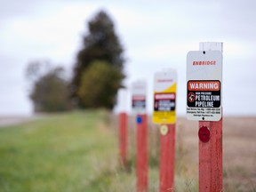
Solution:
M 175 70 L 156 72 L 153 123 L 174 124 L 176 122 L 176 81 Z

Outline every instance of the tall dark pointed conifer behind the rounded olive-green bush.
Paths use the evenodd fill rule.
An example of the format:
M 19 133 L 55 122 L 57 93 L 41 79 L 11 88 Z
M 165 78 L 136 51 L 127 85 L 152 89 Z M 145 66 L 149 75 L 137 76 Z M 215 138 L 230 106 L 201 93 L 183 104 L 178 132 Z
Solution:
M 108 90 L 106 90 L 107 92 L 93 92 L 92 94 L 95 94 L 92 95 L 93 98 L 100 98 L 100 100 L 104 100 L 102 95 L 105 95 L 108 100 L 114 102 L 113 98 L 116 95 L 118 87 L 122 86 L 122 79 L 124 78 L 124 49 L 119 42 L 119 38 L 116 36 L 114 30 L 114 23 L 109 18 L 108 14 L 103 11 L 98 12 L 96 16 L 88 22 L 88 29 L 89 33 L 84 36 L 83 39 L 83 47 L 77 53 L 74 76 L 70 87 L 72 97 L 77 100 L 78 107 L 80 108 L 91 108 L 92 106 L 94 106 L 91 106 L 87 102 L 84 102 L 84 97 L 82 97 L 83 94 L 81 93 L 83 92 L 81 90 L 81 86 L 82 84 L 83 86 L 85 84 L 84 79 L 86 79 L 87 81 L 92 81 L 89 77 L 84 76 L 89 76 L 86 70 L 88 70 L 88 68 L 92 65 L 92 63 L 94 63 L 94 61 L 102 60 L 103 62 L 105 62 L 106 65 L 109 66 L 109 68 L 116 68 L 115 73 L 119 73 L 119 75 L 118 77 L 116 77 L 116 80 L 111 79 L 112 83 L 115 82 L 115 85 L 113 85 L 112 87 L 115 87 L 116 90 L 113 90 L 111 92 Z M 90 76 L 92 76 L 92 74 Z M 94 84 L 100 83 L 94 82 Z M 101 96 L 98 94 L 100 94 Z M 112 108 L 114 106 L 114 103 L 110 104 L 108 103 L 109 101 L 100 102 L 98 100 L 98 102 L 98 105 L 101 105 L 101 107 Z

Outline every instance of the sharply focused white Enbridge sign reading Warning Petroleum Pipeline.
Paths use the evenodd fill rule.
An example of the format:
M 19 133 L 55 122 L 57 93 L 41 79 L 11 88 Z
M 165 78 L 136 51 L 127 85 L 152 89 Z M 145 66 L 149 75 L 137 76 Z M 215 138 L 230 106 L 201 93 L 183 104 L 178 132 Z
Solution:
M 221 118 L 222 53 L 188 52 L 187 118 L 219 121 Z

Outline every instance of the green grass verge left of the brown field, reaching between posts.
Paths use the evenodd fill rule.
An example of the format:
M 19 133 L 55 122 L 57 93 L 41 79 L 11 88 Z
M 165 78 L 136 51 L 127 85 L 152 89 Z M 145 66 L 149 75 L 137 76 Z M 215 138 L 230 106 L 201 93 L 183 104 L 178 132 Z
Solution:
M 0 192 L 136 191 L 136 129 L 129 128 L 124 171 L 118 164 L 116 120 L 102 110 L 76 111 L 1 128 Z M 197 180 L 187 172 L 188 151 L 181 139 L 176 148 L 175 191 L 197 191 Z M 158 189 L 159 132 L 150 125 L 148 191 Z

